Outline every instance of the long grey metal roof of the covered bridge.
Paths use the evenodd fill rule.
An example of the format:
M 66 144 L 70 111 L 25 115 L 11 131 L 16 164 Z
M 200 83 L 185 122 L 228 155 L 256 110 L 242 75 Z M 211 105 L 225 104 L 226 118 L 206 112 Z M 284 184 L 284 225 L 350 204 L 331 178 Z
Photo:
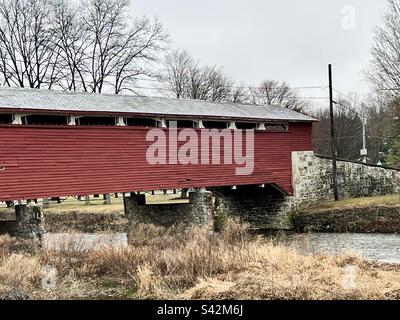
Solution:
M 9 87 L 0 88 L 0 111 L 316 121 L 307 115 L 280 106 Z

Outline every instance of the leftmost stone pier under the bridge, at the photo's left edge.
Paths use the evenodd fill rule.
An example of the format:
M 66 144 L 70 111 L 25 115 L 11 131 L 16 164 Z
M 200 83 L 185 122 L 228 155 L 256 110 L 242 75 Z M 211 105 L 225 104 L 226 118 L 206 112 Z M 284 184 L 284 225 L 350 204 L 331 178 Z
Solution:
M 42 241 L 44 228 L 43 209 L 38 205 L 20 204 L 15 206 L 15 216 L 0 222 L 0 233 L 13 237 Z

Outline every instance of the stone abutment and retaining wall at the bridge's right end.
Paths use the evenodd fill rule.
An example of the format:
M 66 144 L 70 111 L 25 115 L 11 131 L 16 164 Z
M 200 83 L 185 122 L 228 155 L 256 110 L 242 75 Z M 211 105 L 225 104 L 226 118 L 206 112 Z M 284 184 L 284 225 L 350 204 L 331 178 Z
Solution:
M 337 167 L 342 199 L 400 192 L 399 170 L 348 161 L 338 161 Z M 292 196 L 273 192 L 271 187 L 213 188 L 216 214 L 238 216 L 254 228 L 292 229 L 295 212 L 333 200 L 331 159 L 318 157 L 313 152 L 293 152 L 292 168 Z

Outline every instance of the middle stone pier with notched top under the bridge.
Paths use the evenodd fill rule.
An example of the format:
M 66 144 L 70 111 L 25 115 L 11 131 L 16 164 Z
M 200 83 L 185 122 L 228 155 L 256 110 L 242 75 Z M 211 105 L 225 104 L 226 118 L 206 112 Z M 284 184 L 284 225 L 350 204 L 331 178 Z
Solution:
M 189 203 L 146 204 L 144 194 L 124 198 L 125 215 L 131 224 L 152 223 L 171 227 L 177 224 L 213 223 L 212 194 L 206 190 L 189 193 Z

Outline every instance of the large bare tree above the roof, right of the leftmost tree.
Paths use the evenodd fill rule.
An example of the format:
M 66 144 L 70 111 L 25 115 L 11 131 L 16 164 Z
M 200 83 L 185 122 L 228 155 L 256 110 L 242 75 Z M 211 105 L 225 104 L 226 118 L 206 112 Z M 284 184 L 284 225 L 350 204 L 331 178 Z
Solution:
M 129 85 L 139 75 L 151 75 L 149 63 L 157 60 L 168 36 L 161 24 L 149 18 L 126 16 L 130 0 L 86 0 L 82 29 L 87 48 L 77 64 L 85 91 L 114 93 L 133 90 Z M 68 47 L 66 48 L 68 50 Z

